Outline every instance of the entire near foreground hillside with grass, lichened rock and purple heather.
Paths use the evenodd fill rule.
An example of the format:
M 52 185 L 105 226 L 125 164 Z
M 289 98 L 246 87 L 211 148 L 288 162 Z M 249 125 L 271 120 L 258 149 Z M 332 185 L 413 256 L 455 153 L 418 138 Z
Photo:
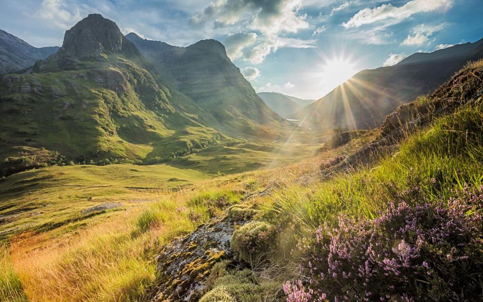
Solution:
M 2 298 L 479 301 L 482 78 L 483 63 L 470 63 L 316 158 L 214 179 L 186 171 L 189 187 L 140 192 L 101 210 L 104 219 L 62 226 L 74 232 L 54 225 L 14 236 Z M 48 169 L 7 181 L 28 186 Z

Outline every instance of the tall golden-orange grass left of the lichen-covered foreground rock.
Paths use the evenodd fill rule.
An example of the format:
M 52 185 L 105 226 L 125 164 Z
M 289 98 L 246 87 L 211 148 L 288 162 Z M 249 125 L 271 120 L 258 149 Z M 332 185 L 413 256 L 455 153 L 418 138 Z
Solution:
M 197 225 L 184 206 L 187 194 L 157 195 L 156 202 L 67 238 L 14 242 L 16 280 L 33 301 L 142 301 L 154 281 L 158 248 Z M 30 248 L 43 239 L 49 247 Z

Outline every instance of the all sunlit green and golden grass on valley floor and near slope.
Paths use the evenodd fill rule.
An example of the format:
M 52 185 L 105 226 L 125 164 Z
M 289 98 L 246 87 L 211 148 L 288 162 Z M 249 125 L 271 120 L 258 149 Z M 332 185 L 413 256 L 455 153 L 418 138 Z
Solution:
M 419 104 L 423 103 L 431 101 L 426 99 Z M 397 152 L 357 170 L 319 179 L 316 173 L 321 162 L 353 154 L 377 135 L 367 133 L 347 145 L 320 153 L 315 159 L 300 160 L 312 146 L 303 150 L 296 144 L 286 144 L 284 148 L 278 143 L 243 143 L 209 147 L 188 156 L 191 162 L 175 161 L 175 166 L 48 167 L 10 176 L 0 183 L 5 200 L 1 213 L 14 215 L 5 225 L 11 228 L 30 221 L 37 225 L 66 223 L 9 238 L 10 255 L 2 254 L 2 265 L 7 269 L 0 275 L 0 284 L 9 284 L 6 288 L 10 289 L 2 292 L 3 298 L 145 300 L 155 280 L 153 259 L 159 246 L 193 231 L 210 217 L 224 215 L 226 207 L 245 203 L 256 209 L 253 223 L 276 230 L 270 245 L 253 243 L 261 248 L 257 251 L 270 247 L 269 261 L 257 263 L 252 270 L 246 270 L 246 266 L 218 267 L 220 276 L 209 277 L 211 287 L 204 299 L 233 300 L 250 295 L 251 292 L 240 291 L 246 288 L 256 292 L 251 295 L 254 299 L 276 296 L 275 300 L 283 300 L 277 295 L 276 283 L 283 281 L 280 276 L 285 280 L 300 277 L 297 266 L 292 265 L 301 261 L 297 245 L 308 245 L 319 225 L 336 226 L 341 214 L 376 218 L 388 202 L 399 198 L 400 191 L 415 184 L 421 187 L 422 198 L 438 202 L 461 190 L 465 183 L 483 183 L 481 98 L 408 133 Z M 291 146 L 295 151 L 290 150 Z M 266 169 L 213 178 L 214 171 L 227 167 L 218 157 L 221 150 L 226 157 L 232 157 L 227 163 L 236 167 L 229 173 L 245 171 L 247 163 L 269 154 L 295 156 L 293 163 L 288 160 L 273 167 L 267 162 Z M 256 194 L 245 200 L 246 193 Z M 49 200 L 54 201 L 51 207 L 38 209 Z M 81 209 L 101 201 L 121 202 L 122 210 L 96 212 L 92 217 L 75 220 Z M 28 215 L 38 211 L 42 212 L 38 218 Z M 245 246 L 238 244 L 238 253 L 243 253 Z

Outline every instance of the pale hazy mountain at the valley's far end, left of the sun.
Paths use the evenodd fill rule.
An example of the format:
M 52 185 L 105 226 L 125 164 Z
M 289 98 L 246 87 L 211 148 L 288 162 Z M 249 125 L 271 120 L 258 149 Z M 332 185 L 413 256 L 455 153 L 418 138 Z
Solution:
M 315 100 L 302 100 L 296 97 L 287 96 L 278 92 L 260 92 L 258 96 L 280 116 L 288 118 Z

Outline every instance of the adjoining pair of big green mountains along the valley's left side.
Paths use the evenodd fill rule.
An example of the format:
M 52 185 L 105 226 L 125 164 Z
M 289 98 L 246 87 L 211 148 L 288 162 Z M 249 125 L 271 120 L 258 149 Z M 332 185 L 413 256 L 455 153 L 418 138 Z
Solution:
M 17 49 L 11 56 L 22 56 Z M 124 37 L 99 14 L 67 30 L 62 47 L 28 72 L 0 77 L 0 115 L 2 175 L 70 160 L 166 162 L 294 127 L 258 97 L 221 43 Z

